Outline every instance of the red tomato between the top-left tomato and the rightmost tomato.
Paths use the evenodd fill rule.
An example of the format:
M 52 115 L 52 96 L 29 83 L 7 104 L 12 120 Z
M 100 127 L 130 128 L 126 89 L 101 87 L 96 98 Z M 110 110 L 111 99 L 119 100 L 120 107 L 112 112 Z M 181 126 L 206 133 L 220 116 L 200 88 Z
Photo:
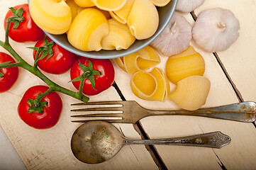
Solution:
M 49 42 L 52 40 L 47 38 Z M 44 40 L 39 40 L 35 47 L 42 47 L 44 46 Z M 43 71 L 51 73 L 51 74 L 62 74 L 67 72 L 72 67 L 72 64 L 77 59 L 77 56 L 74 55 L 72 52 L 65 50 L 64 48 L 60 47 L 60 45 L 53 45 L 52 47 L 53 55 L 48 60 L 47 55 L 43 60 L 38 61 L 38 67 L 43 69 Z M 34 50 L 33 57 L 35 59 L 36 52 Z M 40 57 L 41 55 L 39 55 Z

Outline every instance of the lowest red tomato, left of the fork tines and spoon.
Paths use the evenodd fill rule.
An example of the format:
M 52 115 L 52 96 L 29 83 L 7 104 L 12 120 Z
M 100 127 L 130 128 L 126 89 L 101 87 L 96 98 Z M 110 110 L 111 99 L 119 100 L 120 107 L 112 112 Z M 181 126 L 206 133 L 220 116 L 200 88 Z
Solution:
M 27 103 L 27 100 L 29 98 L 35 99 L 38 94 L 43 94 L 48 89 L 48 86 L 32 86 L 26 91 L 21 102 L 18 104 L 18 115 L 21 117 L 21 120 L 33 128 L 51 128 L 60 118 L 62 100 L 55 91 L 52 91 L 50 94 L 42 98 L 42 101 L 48 102 L 47 107 L 43 107 L 43 113 L 28 113 L 30 106 Z

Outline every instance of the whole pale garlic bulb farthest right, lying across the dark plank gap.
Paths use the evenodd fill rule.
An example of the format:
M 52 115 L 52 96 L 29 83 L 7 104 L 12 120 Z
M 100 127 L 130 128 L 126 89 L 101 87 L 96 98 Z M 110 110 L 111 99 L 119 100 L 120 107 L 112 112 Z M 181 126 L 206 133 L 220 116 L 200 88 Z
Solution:
M 238 39 L 240 23 L 234 14 L 223 8 L 199 13 L 192 29 L 196 44 L 207 52 L 227 50 Z

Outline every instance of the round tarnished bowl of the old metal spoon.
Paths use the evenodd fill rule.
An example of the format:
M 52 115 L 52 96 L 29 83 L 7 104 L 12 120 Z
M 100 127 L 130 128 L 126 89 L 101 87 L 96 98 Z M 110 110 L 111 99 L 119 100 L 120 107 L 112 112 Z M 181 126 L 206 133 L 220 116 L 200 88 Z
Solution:
M 84 123 L 74 132 L 71 140 L 74 156 L 89 164 L 111 159 L 122 147 L 121 132 L 103 121 Z

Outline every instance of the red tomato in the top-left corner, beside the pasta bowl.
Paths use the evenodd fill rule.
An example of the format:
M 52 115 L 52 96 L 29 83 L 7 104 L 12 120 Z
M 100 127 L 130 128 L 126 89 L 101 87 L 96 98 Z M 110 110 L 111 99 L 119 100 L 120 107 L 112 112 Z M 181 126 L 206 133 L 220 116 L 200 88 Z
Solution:
M 28 4 L 21 4 L 18 6 L 14 6 L 16 10 L 18 8 L 23 8 L 23 18 L 24 21 L 20 23 L 18 28 L 13 29 L 13 23 L 10 25 L 9 29 L 9 37 L 16 42 L 26 42 L 26 41 L 38 41 L 42 39 L 45 35 L 43 30 L 41 30 L 33 21 L 30 16 Z M 6 29 L 6 19 L 13 16 L 11 10 L 6 13 L 6 17 L 4 18 L 4 28 Z

